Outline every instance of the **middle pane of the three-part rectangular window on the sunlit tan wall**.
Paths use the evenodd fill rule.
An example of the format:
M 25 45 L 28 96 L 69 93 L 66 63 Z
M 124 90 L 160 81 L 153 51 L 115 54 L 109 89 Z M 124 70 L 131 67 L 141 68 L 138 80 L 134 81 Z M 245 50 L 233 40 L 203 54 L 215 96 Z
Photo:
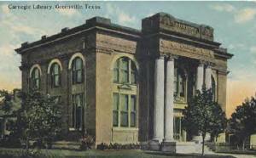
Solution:
M 120 95 L 121 126 L 128 127 L 128 95 Z

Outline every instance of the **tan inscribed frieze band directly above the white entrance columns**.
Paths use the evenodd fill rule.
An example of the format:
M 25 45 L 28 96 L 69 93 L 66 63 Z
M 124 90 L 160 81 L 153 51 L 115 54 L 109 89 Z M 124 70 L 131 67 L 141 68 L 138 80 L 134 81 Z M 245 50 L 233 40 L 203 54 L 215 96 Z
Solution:
M 196 48 L 189 44 L 160 40 L 160 52 L 170 53 L 179 56 L 186 56 L 195 59 L 204 59 L 207 61 L 212 61 L 214 59 L 214 54 L 212 50 L 205 48 Z

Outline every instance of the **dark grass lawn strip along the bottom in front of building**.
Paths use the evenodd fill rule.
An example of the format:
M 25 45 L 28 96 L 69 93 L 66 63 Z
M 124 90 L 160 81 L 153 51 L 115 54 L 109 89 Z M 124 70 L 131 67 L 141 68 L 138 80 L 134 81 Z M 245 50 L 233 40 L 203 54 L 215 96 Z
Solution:
M 20 149 L 0 149 L 0 157 L 4 158 L 17 158 L 17 157 L 27 157 L 22 156 L 24 150 Z M 153 151 L 143 151 L 143 150 L 87 150 L 87 151 L 76 151 L 76 150 L 41 150 L 39 156 L 36 157 L 49 157 L 49 158 L 79 158 L 79 157 L 92 157 L 92 158 L 101 158 L 101 157 L 113 157 L 113 158 L 196 158 L 201 157 L 200 155 L 172 155 L 162 152 L 153 152 Z M 233 156 L 227 155 L 205 155 L 207 158 L 232 158 Z

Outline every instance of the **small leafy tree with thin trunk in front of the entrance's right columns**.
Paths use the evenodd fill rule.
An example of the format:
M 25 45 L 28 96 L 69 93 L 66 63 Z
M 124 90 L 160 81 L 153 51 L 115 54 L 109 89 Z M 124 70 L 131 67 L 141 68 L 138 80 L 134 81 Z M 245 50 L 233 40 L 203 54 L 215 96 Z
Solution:
M 202 88 L 202 91 L 196 91 L 194 98 L 189 106 L 183 110 L 184 127 L 192 135 L 201 134 L 202 152 L 204 155 L 204 144 L 206 134 L 210 133 L 212 137 L 218 137 L 219 133 L 224 132 L 225 114 L 220 105 L 212 99 L 212 89 Z

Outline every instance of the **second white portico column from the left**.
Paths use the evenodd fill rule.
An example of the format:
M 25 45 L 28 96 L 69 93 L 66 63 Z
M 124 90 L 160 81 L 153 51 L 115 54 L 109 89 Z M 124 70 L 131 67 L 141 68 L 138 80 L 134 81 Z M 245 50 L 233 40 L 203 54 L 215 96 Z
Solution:
M 174 59 L 166 63 L 165 142 L 173 141 Z

